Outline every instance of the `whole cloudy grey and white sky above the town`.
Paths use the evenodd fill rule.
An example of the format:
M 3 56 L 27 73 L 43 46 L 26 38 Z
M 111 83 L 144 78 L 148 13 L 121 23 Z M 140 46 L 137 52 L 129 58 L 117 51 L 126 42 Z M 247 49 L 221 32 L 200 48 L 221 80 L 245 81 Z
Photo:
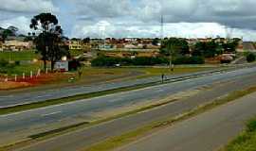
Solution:
M 68 37 L 243 37 L 256 40 L 256 0 L 0 0 L 0 26 L 30 31 L 40 12 L 57 15 Z

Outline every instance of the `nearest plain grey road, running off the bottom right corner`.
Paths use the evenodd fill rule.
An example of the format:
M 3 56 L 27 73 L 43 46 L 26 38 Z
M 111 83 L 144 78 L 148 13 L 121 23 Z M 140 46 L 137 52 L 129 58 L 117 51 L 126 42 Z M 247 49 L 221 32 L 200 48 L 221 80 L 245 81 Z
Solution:
M 117 151 L 213 151 L 238 135 L 245 122 L 256 115 L 256 93 L 212 109 Z

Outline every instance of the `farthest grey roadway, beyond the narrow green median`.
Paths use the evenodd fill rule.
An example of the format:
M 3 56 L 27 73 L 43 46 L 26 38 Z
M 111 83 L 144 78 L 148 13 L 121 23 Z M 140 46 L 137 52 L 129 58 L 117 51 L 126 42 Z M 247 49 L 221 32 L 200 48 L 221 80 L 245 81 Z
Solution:
M 194 76 L 194 75 L 206 74 L 210 72 L 212 71 L 167 76 L 167 78 L 174 79 L 181 76 Z M 18 106 L 18 105 L 30 104 L 35 102 L 42 102 L 49 99 L 57 99 L 57 98 L 63 98 L 68 96 L 74 96 L 77 94 L 90 93 L 90 92 L 102 92 L 107 90 L 119 89 L 123 87 L 131 87 L 139 84 L 158 82 L 160 80 L 161 80 L 161 76 L 152 76 L 152 77 L 141 78 L 141 79 L 125 80 L 125 81 L 119 81 L 119 82 L 98 83 L 96 85 L 87 85 L 87 86 L 73 86 L 73 87 L 52 89 L 52 90 L 46 90 L 46 91 L 40 91 L 40 92 L 1 94 L 0 109 Z

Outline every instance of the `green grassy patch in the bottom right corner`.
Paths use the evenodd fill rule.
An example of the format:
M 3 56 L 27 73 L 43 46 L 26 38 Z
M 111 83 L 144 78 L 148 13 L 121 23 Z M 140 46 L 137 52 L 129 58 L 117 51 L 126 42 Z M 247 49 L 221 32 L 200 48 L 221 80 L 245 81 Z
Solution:
M 247 122 L 247 128 L 222 151 L 255 151 L 256 150 L 256 118 Z

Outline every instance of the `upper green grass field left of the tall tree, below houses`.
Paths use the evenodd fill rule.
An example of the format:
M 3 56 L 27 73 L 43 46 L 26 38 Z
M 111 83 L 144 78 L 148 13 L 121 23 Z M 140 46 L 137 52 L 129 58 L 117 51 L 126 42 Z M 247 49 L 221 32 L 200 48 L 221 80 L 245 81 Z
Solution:
M 38 59 L 39 55 L 34 51 L 22 51 L 22 52 L 0 52 L 0 59 L 6 60 L 33 60 Z

